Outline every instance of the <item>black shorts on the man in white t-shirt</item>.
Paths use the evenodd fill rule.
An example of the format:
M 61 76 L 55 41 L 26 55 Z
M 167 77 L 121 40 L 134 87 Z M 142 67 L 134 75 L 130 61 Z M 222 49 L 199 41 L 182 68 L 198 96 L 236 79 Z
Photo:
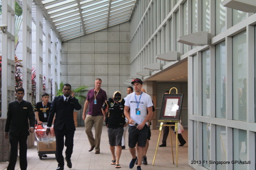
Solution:
M 136 126 L 129 126 L 129 148 L 134 148 L 138 142 L 139 147 L 145 147 L 148 134 L 148 127 L 138 130 Z

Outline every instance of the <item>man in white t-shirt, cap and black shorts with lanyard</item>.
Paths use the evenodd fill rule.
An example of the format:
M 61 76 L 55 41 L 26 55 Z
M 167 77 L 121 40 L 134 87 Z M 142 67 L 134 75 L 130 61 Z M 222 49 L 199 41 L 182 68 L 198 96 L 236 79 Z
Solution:
M 134 167 L 138 159 L 137 170 L 141 170 L 141 162 L 143 158 L 143 149 L 147 139 L 148 120 L 153 116 L 151 96 L 141 91 L 143 82 L 140 79 L 132 81 L 134 85 L 133 93 L 126 96 L 124 104 L 124 115 L 129 121 L 129 149 L 133 159 L 130 162 L 130 168 Z M 129 114 L 130 108 L 130 114 Z M 148 111 L 148 114 L 147 114 Z M 136 143 L 138 143 L 138 158 L 136 156 Z

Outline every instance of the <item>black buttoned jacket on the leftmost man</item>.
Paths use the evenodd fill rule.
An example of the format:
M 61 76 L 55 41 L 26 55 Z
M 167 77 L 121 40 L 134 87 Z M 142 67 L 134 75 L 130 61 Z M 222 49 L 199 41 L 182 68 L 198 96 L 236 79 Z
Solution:
M 29 119 L 29 122 L 28 122 Z M 29 128 L 35 126 L 35 114 L 31 103 L 13 101 L 9 103 L 5 132 L 13 136 L 28 136 Z

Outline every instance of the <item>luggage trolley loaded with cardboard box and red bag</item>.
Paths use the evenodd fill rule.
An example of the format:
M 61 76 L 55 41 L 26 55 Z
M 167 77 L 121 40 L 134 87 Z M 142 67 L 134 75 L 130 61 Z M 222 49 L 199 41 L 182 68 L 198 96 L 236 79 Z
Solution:
M 53 127 L 51 133 L 46 135 L 47 123 L 35 125 L 35 136 L 37 141 L 37 153 L 40 159 L 44 158 L 44 154 L 55 154 L 56 157 L 56 138 Z

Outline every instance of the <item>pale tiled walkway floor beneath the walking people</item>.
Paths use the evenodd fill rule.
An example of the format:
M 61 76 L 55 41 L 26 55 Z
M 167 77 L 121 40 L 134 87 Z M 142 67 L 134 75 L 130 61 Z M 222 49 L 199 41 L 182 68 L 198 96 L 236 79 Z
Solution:
M 126 133 L 127 135 L 128 133 Z M 187 141 L 187 130 L 182 134 L 184 139 Z M 150 140 L 150 147 L 147 151 L 147 165 L 142 165 L 142 169 L 152 170 L 152 169 L 158 169 L 158 170 L 164 170 L 164 169 L 194 169 L 188 165 L 188 159 L 187 159 L 187 143 L 183 147 L 178 147 L 178 167 L 176 167 L 176 164 L 173 164 L 172 161 L 172 152 L 170 147 L 170 141 L 169 138 L 167 139 L 167 147 L 158 148 L 157 156 L 155 159 L 155 164 L 152 166 L 153 158 L 156 151 L 157 146 L 157 140 L 159 136 L 159 130 L 152 130 L 152 137 Z M 172 133 L 173 139 L 175 139 L 175 134 Z M 160 141 L 162 139 L 162 134 Z M 128 148 L 128 138 L 126 136 L 126 148 Z M 161 144 L 161 142 L 159 142 Z M 175 145 L 175 141 L 173 141 L 173 144 Z M 36 145 L 36 142 L 35 142 Z M 74 137 L 74 152 L 71 157 L 71 161 L 73 164 L 73 167 L 71 169 L 97 169 L 97 170 L 108 170 L 108 169 L 116 169 L 114 165 L 111 165 L 111 152 L 109 149 L 109 140 L 108 140 L 108 134 L 107 129 L 105 126 L 103 126 L 102 135 L 101 135 L 101 144 L 100 144 L 100 154 L 95 154 L 95 151 L 88 152 L 88 149 L 90 148 L 90 144 L 88 141 L 88 138 L 84 132 L 84 127 L 78 127 L 75 132 Z M 63 151 L 63 155 L 65 156 L 65 149 Z M 174 156 L 176 156 L 176 148 L 174 147 Z M 57 168 L 57 161 L 55 159 L 54 154 L 48 154 L 48 158 L 45 158 L 43 160 L 40 160 L 37 155 L 37 149 L 36 146 L 28 149 L 28 170 L 30 169 L 36 169 L 36 170 L 42 170 L 42 169 L 56 169 Z M 131 161 L 131 154 L 129 149 L 122 150 L 121 158 L 120 158 L 120 165 L 121 169 L 130 169 L 129 163 Z M 176 163 L 176 157 L 175 163 Z M 66 162 L 65 162 L 66 163 Z M 8 162 L 0 162 L 0 169 L 7 169 Z M 19 161 L 17 159 L 16 163 L 16 169 L 19 168 Z M 69 169 L 67 165 L 65 164 L 65 169 Z M 132 169 L 137 169 L 137 166 L 135 165 Z

